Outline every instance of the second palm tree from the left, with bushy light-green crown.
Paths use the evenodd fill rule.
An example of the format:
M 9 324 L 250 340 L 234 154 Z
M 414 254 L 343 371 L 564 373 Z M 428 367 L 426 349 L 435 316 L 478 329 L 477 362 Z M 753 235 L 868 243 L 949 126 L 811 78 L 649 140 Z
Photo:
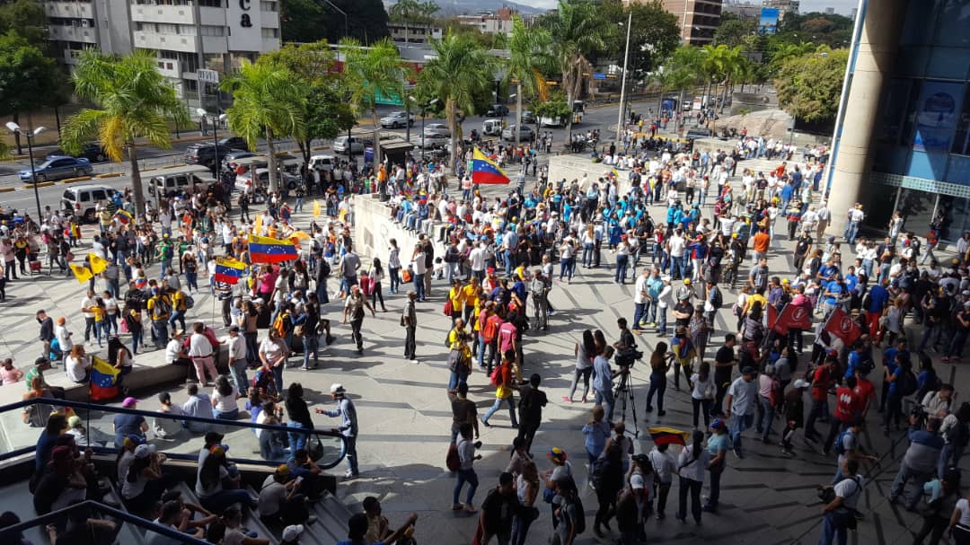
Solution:
M 222 80 L 219 87 L 233 94 L 233 105 L 226 111 L 229 128 L 255 149 L 256 139 L 266 138 L 270 171 L 270 191 L 279 190 L 276 173 L 275 139 L 303 136 L 306 93 L 298 79 L 273 62 L 242 61 L 240 72 Z

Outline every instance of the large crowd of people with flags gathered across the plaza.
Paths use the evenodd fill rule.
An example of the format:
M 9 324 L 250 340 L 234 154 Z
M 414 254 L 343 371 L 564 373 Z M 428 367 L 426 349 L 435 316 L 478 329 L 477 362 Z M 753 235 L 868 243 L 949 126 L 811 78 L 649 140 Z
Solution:
M 867 477 L 885 466 L 885 455 L 877 458 L 864 446 L 863 431 L 876 420 L 870 412 L 881 413 L 878 420 L 891 440 L 902 440 L 901 425 L 908 424 L 909 446 L 889 500 L 902 497 L 904 507 L 920 511 L 924 525 L 917 542 L 937 543 L 946 532 L 956 543 L 970 542 L 970 506 L 960 497 L 958 469 L 970 438 L 970 403 L 954 401 L 956 385 L 945 381 L 932 356 L 939 356 L 940 365 L 959 361 L 970 332 L 970 235 L 957 244 L 954 260 L 943 265 L 930 253 L 939 233 L 922 237 L 929 264 L 921 270 L 926 256 L 921 259 L 920 238 L 905 229 L 901 214 L 889 223 L 889 237 L 877 242 L 858 233 L 864 217 L 860 207 L 827 207 L 818 194 L 824 149 L 799 162 L 796 149 L 747 134 L 732 149 L 713 153 L 677 147 L 655 152 L 646 143 L 630 135 L 620 143 L 622 150 L 611 144 L 598 153 L 610 167 L 598 179 L 553 180 L 543 170 L 531 188 L 501 195 L 487 195 L 464 169 L 460 181 L 449 185 L 442 165 L 382 166 L 360 187 L 376 189 L 388 218 L 417 241 L 404 247 L 386 240 L 386 254 L 370 256 L 368 266 L 350 237 L 350 195 L 328 210 L 340 219 L 318 220 L 315 214 L 307 230 L 298 231 L 282 194 L 268 196 L 265 211 L 254 219 L 238 222 L 225 199 L 205 195 L 162 199 L 154 214 L 126 222 L 117 210 L 131 208 L 130 195 L 118 194 L 102 205 L 110 220 L 100 223 L 91 241 L 97 259 L 89 257 L 88 265 L 100 259 L 108 266 L 89 280 L 81 301 L 83 342 L 65 318 L 40 310 L 41 359 L 21 371 L 22 377 L 13 365 L 0 373 L 5 383 L 25 378 L 25 399 L 58 397 L 43 377 L 51 362 L 63 361 L 70 379 L 83 383 L 91 369 L 85 347 L 93 350 L 107 341 L 109 364 L 131 372 L 132 362 L 146 350 L 148 329 L 148 349 L 163 350 L 166 364 L 185 366 L 192 382 L 181 405 L 161 395 L 153 422 L 134 413 L 115 420 L 120 454 L 113 477 L 126 504 L 163 525 L 208 535 L 213 526 L 215 531 L 220 525 L 224 532 L 239 529 L 241 514 L 234 505 L 242 503 L 269 517 L 268 524 L 287 525 L 285 535 L 312 522 L 305 503 L 318 494 L 313 475 L 319 470 L 314 472 L 307 455 L 305 432 L 314 427 L 310 403 L 300 383 L 284 381 L 284 369 L 298 352 L 302 369 L 319 365 L 320 341 L 337 338 L 324 317 L 332 299 L 339 301 L 340 321 L 349 323 L 351 341 L 363 355 L 368 312 L 387 311 L 385 297 L 410 285 L 398 310 L 403 356 L 411 362 L 436 356 L 447 361 L 453 409 L 448 465 L 456 473 L 451 508 L 477 515 L 479 544 L 525 543 L 533 523 L 548 511 L 554 541 L 571 545 L 585 531 L 587 486 L 598 502 L 597 536 L 612 532 L 614 518 L 613 536 L 622 543 L 642 542 L 659 531 L 648 521 L 661 524 L 665 518 L 674 481 L 675 518 L 690 517 L 699 525 L 702 513 L 719 509 L 729 461 L 763 452 L 748 444 L 754 440 L 776 444 L 787 458 L 814 451 L 831 459 L 833 477 L 820 490 L 821 543 L 845 543 L 847 530 L 857 525 Z M 535 167 L 528 148 L 499 152 L 524 172 Z M 766 173 L 745 168 L 744 161 L 756 156 L 776 160 L 777 167 Z M 843 213 L 845 232 L 830 235 L 833 215 Z M 776 230 L 779 218 L 785 229 Z M 52 255 L 66 255 L 81 243 L 72 222 L 50 213 L 40 225 L 17 225 L 13 236 L 28 248 L 34 238 L 38 251 L 36 240 L 43 240 L 57 246 L 49 250 L 56 252 Z M 249 234 L 296 238 L 299 258 L 260 263 L 249 251 Z M 13 272 L 12 251 L 13 260 L 4 253 Z M 785 262 L 788 254 L 793 268 Z M 241 263 L 241 280 L 217 280 L 217 258 Z M 533 438 L 544 408 L 558 398 L 541 388 L 550 376 L 531 369 L 530 337 L 550 331 L 551 320 L 556 331 L 550 295 L 576 280 L 577 261 L 584 269 L 611 268 L 613 282 L 630 283 L 630 291 L 621 288 L 631 300 L 624 307 L 630 320 L 618 319 L 611 332 L 576 332 L 580 339 L 568 356 L 575 365 L 566 366 L 571 385 L 562 399 L 592 403 L 582 427 L 586 453 L 571 453 L 570 461 L 566 449 L 554 447 L 546 453 L 548 463 L 540 463 L 533 457 Z M 153 265 L 157 274 L 148 272 Z M 208 277 L 208 291 L 220 302 L 224 337 L 216 335 L 216 324 L 186 321 L 192 296 L 207 289 L 199 287 L 199 276 Z M 122 278 L 128 286 L 123 294 Z M 98 281 L 104 284 L 100 296 Z M 735 294 L 726 319 L 719 311 Z M 429 304 L 443 305 L 450 317 L 447 356 L 429 350 L 433 343 L 420 333 L 417 308 Z M 123 335 L 130 342 L 123 343 Z M 228 358 L 220 374 L 214 364 L 223 352 Z M 632 382 L 636 362 L 649 366 L 647 385 Z M 484 378 L 472 378 L 474 367 Z M 681 394 L 667 391 L 671 370 L 673 389 Z M 249 371 L 254 371 L 251 377 Z M 481 415 L 469 399 L 472 380 L 495 387 L 494 404 Z M 210 392 L 203 390 L 210 385 Z M 125 396 L 124 388 L 121 392 Z M 356 478 L 356 408 L 341 385 L 334 384 L 331 395 L 335 408 L 318 410 L 339 418 L 337 430 L 347 444 L 345 476 Z M 635 402 L 632 411 L 627 402 L 642 395 L 646 403 L 637 415 Z M 671 397 L 690 400 L 693 429 L 654 435 L 652 450 L 638 453 L 637 433 L 628 432 L 631 424 L 638 425 L 638 418 L 663 422 Z M 137 402 L 126 397 L 122 406 L 135 408 Z M 241 419 L 241 403 L 253 423 L 294 430 L 256 430 L 261 456 L 282 464 L 259 497 L 240 488 L 218 433 L 205 421 L 178 420 Z M 512 454 L 495 487 L 476 505 L 479 429 L 497 426 L 502 406 L 516 430 Z M 56 508 L 57 500 L 103 494 L 92 488 L 92 478 L 97 479 L 85 462 L 86 445 L 68 433 L 74 428 L 70 416 L 24 415 L 25 422 L 45 427 L 36 478 L 43 483 L 46 475 L 57 475 L 47 477 L 54 481 L 47 487 L 54 488 L 40 489 L 48 492 L 41 495 L 39 513 Z M 820 432 L 823 424 L 827 429 Z M 748 432 L 751 428 L 756 433 Z M 165 457 L 147 444 L 149 431 L 162 438 L 204 434 L 195 489 L 201 505 L 184 505 L 173 496 L 176 482 L 164 470 Z M 577 458 L 585 461 L 585 474 L 573 467 Z M 705 486 L 709 492 L 702 499 Z M 540 497 L 548 507 L 540 505 Z M 386 524 L 382 533 L 372 533 L 375 520 L 380 520 L 379 505 L 371 502 L 366 520 L 351 522 L 351 539 L 379 542 L 392 533 Z

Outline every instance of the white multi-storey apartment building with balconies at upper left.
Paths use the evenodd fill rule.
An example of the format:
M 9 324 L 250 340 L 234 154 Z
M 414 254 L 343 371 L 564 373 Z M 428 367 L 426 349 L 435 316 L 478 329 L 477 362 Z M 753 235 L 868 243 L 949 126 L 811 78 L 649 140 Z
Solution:
M 277 0 L 54 0 L 44 7 L 61 62 L 77 63 L 85 48 L 153 51 L 159 72 L 191 108 L 217 108 L 205 71 L 230 71 L 280 44 Z

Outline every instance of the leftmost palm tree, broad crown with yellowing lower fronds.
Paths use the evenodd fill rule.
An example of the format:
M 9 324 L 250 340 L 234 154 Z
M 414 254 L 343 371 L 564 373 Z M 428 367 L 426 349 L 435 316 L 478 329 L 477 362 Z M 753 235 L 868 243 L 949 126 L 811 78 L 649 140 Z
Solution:
M 96 140 L 112 161 L 128 156 L 136 215 L 145 213 L 136 141 L 145 138 L 155 147 L 170 148 L 169 122 L 189 122 L 188 110 L 156 62 L 154 53 L 143 50 L 121 57 L 85 50 L 73 76 L 75 94 L 97 108 L 72 115 L 61 132 L 68 153 L 80 153 L 83 144 Z

